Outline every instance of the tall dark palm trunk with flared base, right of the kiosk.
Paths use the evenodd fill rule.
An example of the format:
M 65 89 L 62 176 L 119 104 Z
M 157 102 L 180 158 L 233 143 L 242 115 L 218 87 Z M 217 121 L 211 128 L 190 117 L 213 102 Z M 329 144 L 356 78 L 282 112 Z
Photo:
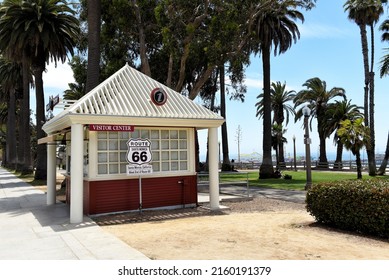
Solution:
M 271 156 L 271 94 L 270 94 L 270 46 L 262 49 L 263 67 L 263 158 L 259 168 L 259 178 L 273 177 L 274 169 Z

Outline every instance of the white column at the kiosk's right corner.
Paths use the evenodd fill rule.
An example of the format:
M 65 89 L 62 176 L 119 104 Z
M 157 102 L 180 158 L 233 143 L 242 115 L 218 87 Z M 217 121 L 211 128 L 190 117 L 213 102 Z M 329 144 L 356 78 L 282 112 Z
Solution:
M 211 210 L 220 209 L 219 205 L 219 144 L 217 128 L 208 129 L 209 152 L 209 200 Z

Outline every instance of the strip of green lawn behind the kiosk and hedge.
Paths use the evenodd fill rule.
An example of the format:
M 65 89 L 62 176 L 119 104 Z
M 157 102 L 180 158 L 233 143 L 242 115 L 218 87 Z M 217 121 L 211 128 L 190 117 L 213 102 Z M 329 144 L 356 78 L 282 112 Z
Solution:
M 288 174 L 292 176 L 292 179 L 286 180 L 280 179 L 259 179 L 258 171 L 248 172 L 248 179 L 250 187 L 266 187 L 288 190 L 304 190 L 306 183 L 305 171 L 283 171 L 283 175 Z M 357 174 L 349 172 L 335 172 L 335 171 L 312 171 L 312 183 L 340 181 L 340 180 L 356 180 Z M 382 178 L 380 176 L 379 178 Z M 388 178 L 388 176 L 384 176 Z M 223 182 L 244 182 L 246 181 L 247 173 L 220 173 L 220 183 Z M 368 175 L 363 176 L 363 179 L 369 179 Z

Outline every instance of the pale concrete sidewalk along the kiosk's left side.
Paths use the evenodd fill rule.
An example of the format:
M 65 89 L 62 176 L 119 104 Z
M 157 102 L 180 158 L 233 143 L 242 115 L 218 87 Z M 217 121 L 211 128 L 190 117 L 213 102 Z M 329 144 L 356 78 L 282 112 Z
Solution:
M 46 205 L 46 195 L 0 168 L 0 259 L 146 260 L 84 216 L 69 223 L 69 206 Z

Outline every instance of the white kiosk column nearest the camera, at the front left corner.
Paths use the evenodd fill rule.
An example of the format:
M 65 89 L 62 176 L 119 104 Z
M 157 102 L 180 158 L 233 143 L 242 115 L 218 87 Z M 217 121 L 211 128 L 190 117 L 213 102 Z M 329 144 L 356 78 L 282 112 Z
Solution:
M 84 126 L 72 124 L 70 159 L 70 223 L 82 223 L 84 217 L 83 155 Z

